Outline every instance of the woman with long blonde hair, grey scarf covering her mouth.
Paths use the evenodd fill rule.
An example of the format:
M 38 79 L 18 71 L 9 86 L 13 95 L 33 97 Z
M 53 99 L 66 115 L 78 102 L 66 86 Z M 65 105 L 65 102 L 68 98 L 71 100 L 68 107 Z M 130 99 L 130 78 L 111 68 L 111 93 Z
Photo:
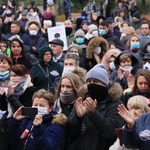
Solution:
M 80 78 L 74 73 L 66 73 L 61 78 L 56 93 L 57 100 L 54 104 L 54 110 L 57 113 L 64 113 L 67 117 L 72 111 L 76 99 L 81 96 Z

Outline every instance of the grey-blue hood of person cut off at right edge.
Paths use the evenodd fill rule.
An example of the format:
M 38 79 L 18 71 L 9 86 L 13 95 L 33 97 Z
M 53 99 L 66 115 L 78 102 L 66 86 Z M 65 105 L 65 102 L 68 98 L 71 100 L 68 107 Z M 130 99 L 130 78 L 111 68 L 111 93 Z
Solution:
M 150 44 L 150 36 L 143 36 L 140 40 L 140 49 L 139 49 L 140 56 L 144 57 L 144 54 L 147 53 L 146 47 L 148 44 Z

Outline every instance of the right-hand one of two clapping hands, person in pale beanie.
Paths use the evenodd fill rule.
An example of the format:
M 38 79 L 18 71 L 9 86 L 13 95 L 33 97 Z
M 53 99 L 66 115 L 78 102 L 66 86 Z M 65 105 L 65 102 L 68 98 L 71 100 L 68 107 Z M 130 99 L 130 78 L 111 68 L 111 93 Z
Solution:
M 92 98 L 88 97 L 85 100 L 86 104 L 86 110 L 88 114 L 92 114 L 95 111 L 95 108 L 97 106 L 97 101 L 93 100 Z

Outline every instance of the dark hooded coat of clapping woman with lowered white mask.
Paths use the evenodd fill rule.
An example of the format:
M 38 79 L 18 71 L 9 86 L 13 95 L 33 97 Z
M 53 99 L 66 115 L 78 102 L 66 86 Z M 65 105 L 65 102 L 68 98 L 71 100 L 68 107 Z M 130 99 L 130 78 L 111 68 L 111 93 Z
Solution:
M 118 57 L 115 59 L 114 63 L 115 63 L 115 67 L 116 67 L 116 70 L 114 70 L 111 75 L 110 75 L 110 80 L 111 81 L 115 81 L 115 82 L 119 82 L 122 86 L 123 89 L 126 89 L 128 88 L 128 85 L 127 85 L 127 78 L 124 77 L 122 80 L 119 80 L 118 79 L 118 68 L 119 68 L 119 58 L 122 54 L 125 54 L 125 53 L 128 53 L 132 56 L 131 60 L 132 60 L 132 67 L 133 69 L 131 70 L 131 74 L 134 76 L 139 68 L 139 60 L 137 58 L 137 56 L 132 52 L 132 51 L 129 51 L 129 50 L 124 50 L 120 55 L 118 55 Z

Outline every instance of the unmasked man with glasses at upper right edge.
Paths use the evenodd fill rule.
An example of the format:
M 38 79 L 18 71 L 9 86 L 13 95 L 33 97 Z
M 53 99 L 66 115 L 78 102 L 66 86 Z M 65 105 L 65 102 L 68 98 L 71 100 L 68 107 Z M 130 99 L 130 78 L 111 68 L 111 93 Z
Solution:
M 141 23 L 141 26 L 140 26 L 140 39 L 143 37 L 143 36 L 150 36 L 150 25 L 148 22 L 144 21 Z

